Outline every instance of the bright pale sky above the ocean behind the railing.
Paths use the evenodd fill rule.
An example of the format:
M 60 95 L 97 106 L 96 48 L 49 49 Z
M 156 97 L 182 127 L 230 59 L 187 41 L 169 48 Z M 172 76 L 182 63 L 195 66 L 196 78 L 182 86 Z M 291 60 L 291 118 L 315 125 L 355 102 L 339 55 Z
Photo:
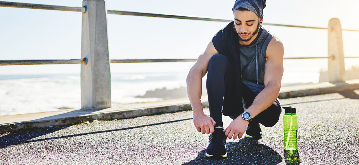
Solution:
M 12 1 L 12 0 L 8 0 Z M 81 0 L 14 2 L 82 6 Z M 108 10 L 197 15 L 233 19 L 234 0 L 107 0 Z M 336 17 L 343 29 L 359 29 L 358 0 L 267 0 L 264 23 L 327 27 Z M 0 7 L 0 60 L 80 59 L 81 13 Z M 225 22 L 107 15 L 110 59 L 193 58 L 203 52 Z M 284 57 L 327 56 L 327 31 L 265 26 L 284 44 Z M 359 56 L 359 32 L 343 32 L 344 55 Z M 358 65 L 347 59 L 346 68 Z M 288 66 L 307 69 L 287 60 Z M 326 66 L 326 61 L 310 65 Z M 111 64 L 111 72 L 188 70 L 193 63 Z M 166 69 L 166 70 L 168 70 Z M 0 66 L 1 74 L 80 72 L 80 64 Z

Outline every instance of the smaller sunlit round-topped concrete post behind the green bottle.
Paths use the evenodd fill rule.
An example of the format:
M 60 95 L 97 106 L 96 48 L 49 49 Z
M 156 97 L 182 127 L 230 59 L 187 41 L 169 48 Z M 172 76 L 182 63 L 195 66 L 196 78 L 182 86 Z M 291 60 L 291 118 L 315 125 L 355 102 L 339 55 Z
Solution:
M 328 81 L 345 82 L 343 38 L 338 18 L 329 20 L 328 29 Z

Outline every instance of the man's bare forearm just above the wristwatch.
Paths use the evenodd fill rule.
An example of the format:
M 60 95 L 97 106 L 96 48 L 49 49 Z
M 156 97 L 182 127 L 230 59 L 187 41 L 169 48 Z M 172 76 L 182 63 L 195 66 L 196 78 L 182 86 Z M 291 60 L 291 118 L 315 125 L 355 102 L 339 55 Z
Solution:
M 254 118 L 262 111 L 266 110 L 279 96 L 280 86 L 268 84 L 254 99 L 252 105 L 246 110 Z

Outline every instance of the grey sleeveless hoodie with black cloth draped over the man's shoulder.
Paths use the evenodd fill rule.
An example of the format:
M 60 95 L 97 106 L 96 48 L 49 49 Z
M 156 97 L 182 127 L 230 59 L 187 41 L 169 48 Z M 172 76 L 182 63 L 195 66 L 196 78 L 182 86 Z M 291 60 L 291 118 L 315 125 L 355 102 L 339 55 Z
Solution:
M 260 26 L 257 38 L 250 45 L 240 45 L 232 21 L 212 38 L 215 49 L 229 59 L 229 69 L 225 78 L 223 115 L 235 116 L 244 111 L 242 78 L 250 82 L 255 81 L 256 84 L 264 83 L 266 50 L 273 36 Z

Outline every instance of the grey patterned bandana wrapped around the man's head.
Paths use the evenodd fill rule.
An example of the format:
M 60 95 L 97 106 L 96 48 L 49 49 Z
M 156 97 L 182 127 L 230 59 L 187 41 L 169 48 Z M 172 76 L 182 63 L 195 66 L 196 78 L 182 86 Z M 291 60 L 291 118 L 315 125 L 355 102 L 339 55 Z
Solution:
M 263 9 L 266 7 L 266 0 L 236 0 L 233 5 L 234 11 L 239 8 L 244 8 L 256 13 L 258 17 L 263 18 Z

